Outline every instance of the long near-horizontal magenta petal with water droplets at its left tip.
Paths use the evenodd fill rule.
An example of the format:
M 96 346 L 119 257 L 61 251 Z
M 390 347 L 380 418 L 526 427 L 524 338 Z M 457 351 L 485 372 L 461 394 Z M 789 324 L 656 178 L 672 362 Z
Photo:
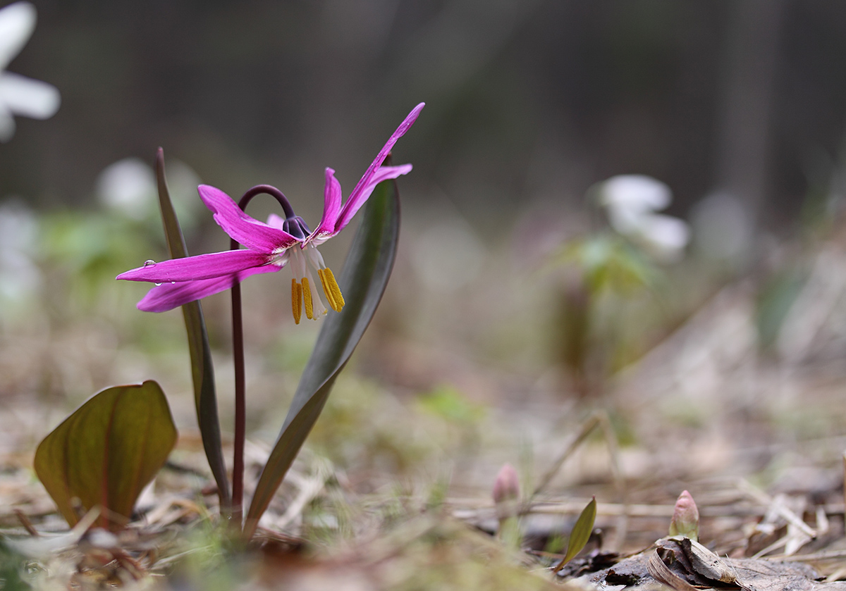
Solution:
M 251 267 L 270 263 L 269 254 L 255 250 L 227 250 L 222 253 L 197 254 L 184 259 L 162 260 L 121 273 L 116 278 L 134 282 L 187 282 L 231 275 Z

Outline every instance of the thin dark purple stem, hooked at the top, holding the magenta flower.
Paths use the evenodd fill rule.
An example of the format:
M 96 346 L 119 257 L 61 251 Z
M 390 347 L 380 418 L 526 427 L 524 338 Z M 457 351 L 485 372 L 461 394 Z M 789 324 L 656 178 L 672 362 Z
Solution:
M 285 217 L 294 217 L 294 208 L 288 203 L 282 191 L 269 184 L 256 185 L 244 193 L 238 206 L 244 211 L 255 195 L 269 194 L 275 198 L 285 212 Z M 229 240 L 229 249 L 237 250 L 239 244 Z M 235 439 L 232 462 L 232 523 L 241 531 L 244 527 L 244 441 L 246 440 L 247 402 L 244 380 L 244 321 L 241 315 L 241 284 L 232 286 L 232 356 L 235 364 Z

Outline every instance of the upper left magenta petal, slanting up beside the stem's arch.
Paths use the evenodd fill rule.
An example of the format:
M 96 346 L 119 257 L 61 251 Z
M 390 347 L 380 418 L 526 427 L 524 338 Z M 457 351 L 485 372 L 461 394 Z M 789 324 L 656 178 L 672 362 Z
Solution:
M 289 233 L 245 214 L 238 204 L 220 189 L 201 184 L 197 192 L 206 207 L 214 213 L 214 221 L 239 244 L 244 244 L 250 249 L 272 252 L 299 242 Z

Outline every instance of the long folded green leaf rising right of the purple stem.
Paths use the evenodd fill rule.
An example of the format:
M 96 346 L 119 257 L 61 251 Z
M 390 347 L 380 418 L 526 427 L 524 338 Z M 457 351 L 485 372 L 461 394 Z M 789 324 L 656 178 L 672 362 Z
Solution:
M 330 312 L 323 319 L 282 432 L 255 487 L 244 525 L 248 538 L 320 416 L 335 378 L 364 335 L 391 276 L 399 238 L 397 183 L 379 183 L 363 213 L 338 281 L 346 304 L 341 313 Z

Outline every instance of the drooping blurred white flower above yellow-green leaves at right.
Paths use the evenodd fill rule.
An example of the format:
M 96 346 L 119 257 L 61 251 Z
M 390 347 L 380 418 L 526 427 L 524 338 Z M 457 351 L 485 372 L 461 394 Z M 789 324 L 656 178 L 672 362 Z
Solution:
M 667 262 L 678 260 L 690 239 L 686 222 L 656 213 L 671 200 L 666 184 L 640 174 L 621 174 L 600 186 L 611 227 Z

